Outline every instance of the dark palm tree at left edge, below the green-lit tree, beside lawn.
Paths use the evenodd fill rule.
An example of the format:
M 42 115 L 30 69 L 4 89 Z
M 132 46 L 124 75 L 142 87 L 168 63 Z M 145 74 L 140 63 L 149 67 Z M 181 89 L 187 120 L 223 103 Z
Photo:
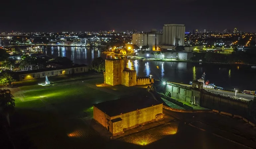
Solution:
M 6 117 L 6 121 L 10 126 L 9 115 L 14 112 L 15 100 L 10 90 L 0 90 L 0 113 Z

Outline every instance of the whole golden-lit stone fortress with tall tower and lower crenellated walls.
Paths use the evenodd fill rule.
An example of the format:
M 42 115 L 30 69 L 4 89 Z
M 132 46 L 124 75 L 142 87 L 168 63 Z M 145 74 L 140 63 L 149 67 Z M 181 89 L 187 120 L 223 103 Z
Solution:
M 125 68 L 124 59 L 105 60 L 104 83 L 115 86 L 145 85 L 154 82 L 153 78 L 137 77 L 135 70 Z

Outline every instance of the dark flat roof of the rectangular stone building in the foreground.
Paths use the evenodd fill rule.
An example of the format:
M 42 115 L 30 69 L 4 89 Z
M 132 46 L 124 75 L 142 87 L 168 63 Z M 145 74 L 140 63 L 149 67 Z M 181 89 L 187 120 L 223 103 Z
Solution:
M 152 95 L 148 93 L 148 95 L 143 96 L 130 96 L 117 100 L 106 101 L 94 104 L 94 106 L 106 113 L 108 116 L 113 117 L 120 115 L 121 113 L 124 114 L 137 109 L 144 109 L 160 104 L 162 103 L 154 100 Z

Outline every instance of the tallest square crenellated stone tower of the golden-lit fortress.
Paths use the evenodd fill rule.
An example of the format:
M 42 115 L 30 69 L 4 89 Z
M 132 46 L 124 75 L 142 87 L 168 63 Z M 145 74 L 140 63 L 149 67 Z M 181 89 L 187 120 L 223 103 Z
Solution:
M 122 84 L 122 72 L 125 68 L 124 59 L 110 59 L 105 61 L 105 83 L 115 86 Z

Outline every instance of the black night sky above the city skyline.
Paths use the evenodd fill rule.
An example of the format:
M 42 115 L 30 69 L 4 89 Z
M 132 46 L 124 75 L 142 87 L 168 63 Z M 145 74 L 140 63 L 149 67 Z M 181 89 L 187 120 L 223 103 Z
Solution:
M 2 0 L 0 32 L 150 31 L 185 24 L 186 31 L 256 32 L 256 0 Z

